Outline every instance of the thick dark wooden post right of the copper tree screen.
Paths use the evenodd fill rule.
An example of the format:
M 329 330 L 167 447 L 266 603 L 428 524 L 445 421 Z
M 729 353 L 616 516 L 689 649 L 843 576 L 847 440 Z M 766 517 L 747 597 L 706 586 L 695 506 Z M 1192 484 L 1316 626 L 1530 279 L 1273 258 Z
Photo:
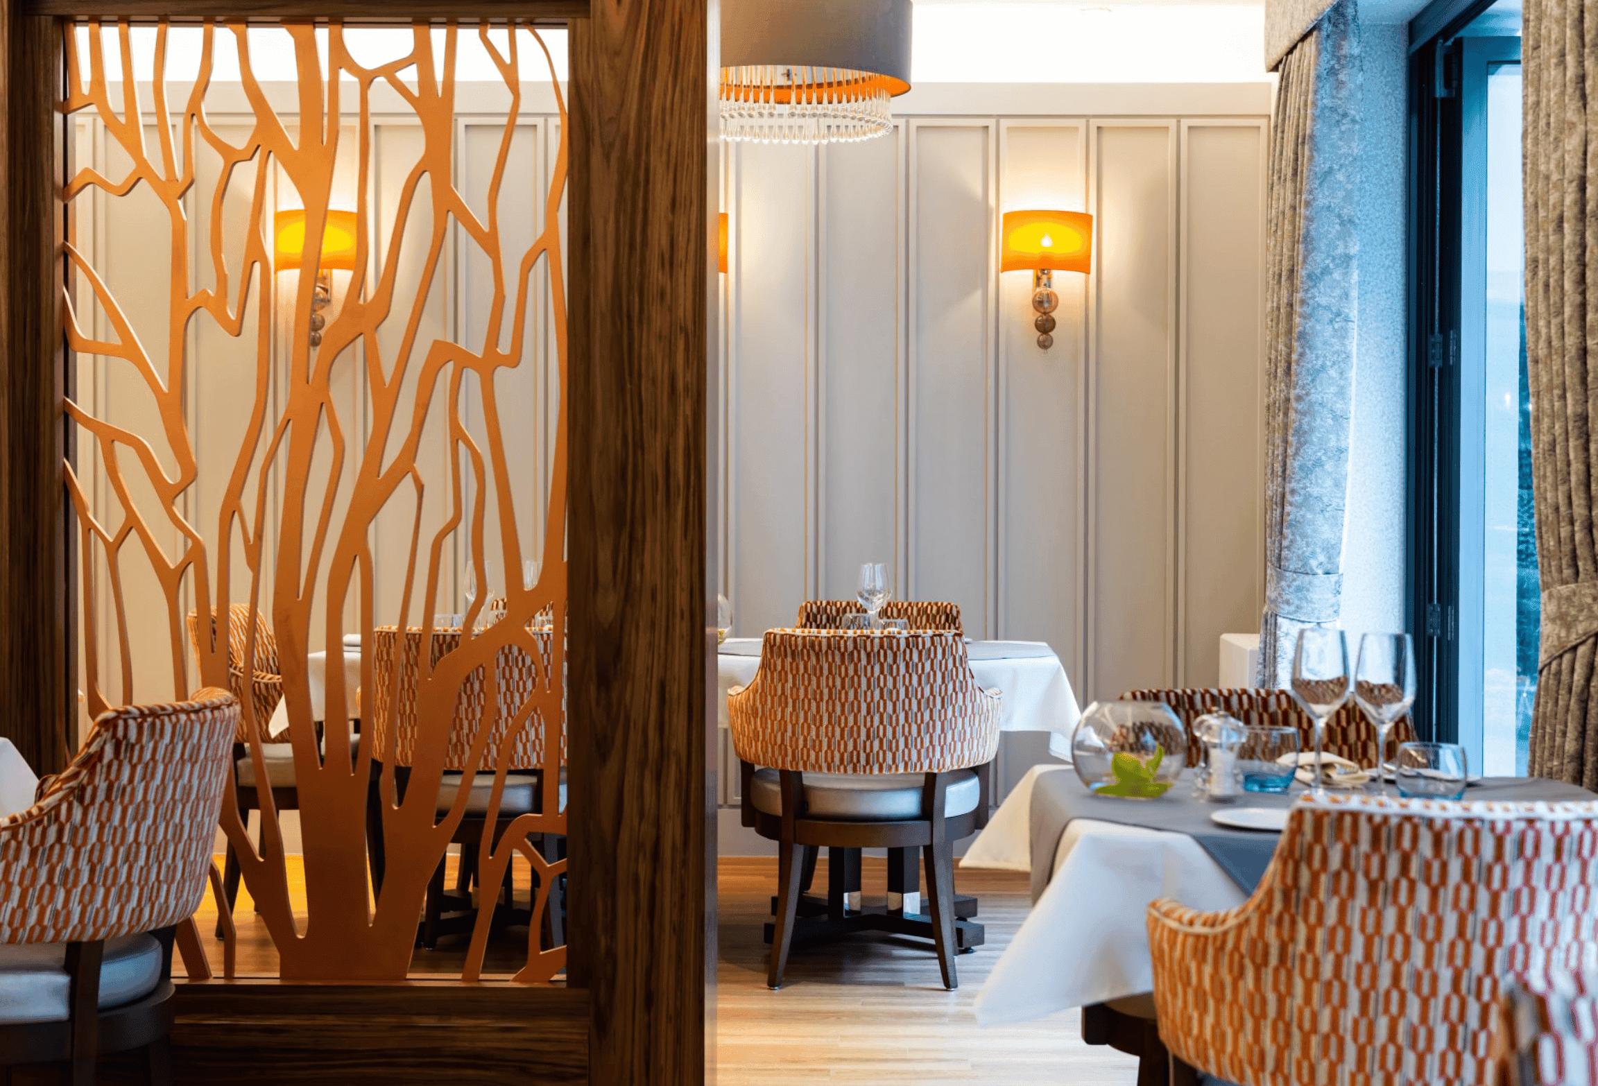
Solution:
M 594 1083 L 705 1078 L 706 21 L 596 0 L 570 37 L 570 981 Z

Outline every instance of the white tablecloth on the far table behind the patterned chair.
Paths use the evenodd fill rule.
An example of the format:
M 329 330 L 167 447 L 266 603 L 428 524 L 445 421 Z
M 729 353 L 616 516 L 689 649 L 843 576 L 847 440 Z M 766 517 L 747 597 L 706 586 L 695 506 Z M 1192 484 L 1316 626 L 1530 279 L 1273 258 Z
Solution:
M 1071 755 L 1071 733 L 1082 717 L 1071 680 L 1055 650 L 1040 640 L 976 640 L 970 645 L 972 676 L 984 690 L 1004 692 L 999 728 L 1004 731 L 1051 731 L 1048 752 Z M 729 637 L 716 656 L 721 696 L 716 719 L 727 727 L 727 690 L 746 687 L 761 668 L 756 637 Z

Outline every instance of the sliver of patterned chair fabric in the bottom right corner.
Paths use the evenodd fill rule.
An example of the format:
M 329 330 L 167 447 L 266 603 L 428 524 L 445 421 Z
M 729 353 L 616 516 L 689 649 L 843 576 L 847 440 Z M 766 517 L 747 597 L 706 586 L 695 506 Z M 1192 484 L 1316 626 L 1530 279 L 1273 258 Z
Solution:
M 1496 1086 L 1598 1086 L 1598 973 L 1510 977 L 1493 1052 Z

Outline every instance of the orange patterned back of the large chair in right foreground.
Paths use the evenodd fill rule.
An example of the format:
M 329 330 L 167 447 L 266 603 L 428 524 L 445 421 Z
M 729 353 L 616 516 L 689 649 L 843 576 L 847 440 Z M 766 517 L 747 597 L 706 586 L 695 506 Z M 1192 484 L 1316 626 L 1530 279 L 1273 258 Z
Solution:
M 1160 1038 L 1253 1086 L 1481 1086 L 1504 977 L 1598 965 L 1598 802 L 1302 799 L 1253 896 L 1149 906 Z

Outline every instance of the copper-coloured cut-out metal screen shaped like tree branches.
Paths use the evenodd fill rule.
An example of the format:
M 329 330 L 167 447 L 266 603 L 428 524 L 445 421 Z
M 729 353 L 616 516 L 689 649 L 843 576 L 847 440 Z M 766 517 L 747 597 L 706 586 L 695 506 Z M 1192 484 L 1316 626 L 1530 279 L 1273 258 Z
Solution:
M 244 626 L 235 660 L 257 661 L 267 636 L 260 631 L 270 631 L 288 728 L 272 735 L 259 719 L 265 703 L 243 698 L 240 741 L 257 783 L 259 848 L 232 789 L 222 827 L 281 976 L 406 977 L 428 882 L 468 818 L 468 786 L 454 787 L 454 802 L 436 810 L 446 773 L 460 771 L 492 781 L 486 814 L 473 813 L 483 819 L 475 842 L 479 888 L 499 888 L 513 856 L 537 874 L 527 963 L 515 979 L 550 979 L 566 960 L 564 945 L 540 939 L 543 928 L 559 931 L 540 920 L 556 907 L 551 886 L 566 870 L 562 858 L 545 854 L 545 843 L 566 830 L 566 407 L 515 402 L 495 377 L 534 364 L 539 324 L 547 321 L 551 402 L 566 386 L 567 126 L 555 61 L 531 24 L 417 24 L 396 56 L 376 64 L 352 53 L 347 35 L 355 29 L 281 24 L 273 34 L 286 34 L 297 72 L 289 112 L 273 105 L 273 93 L 256 77 L 251 45 L 259 24 L 248 30 L 243 22 L 203 24 L 195 70 L 181 78 L 168 77 L 173 34 L 165 22 L 153 35 L 126 22 L 78 24 L 66 42 L 61 109 L 69 125 L 80 113 L 93 118 L 104 133 L 104 161 L 117 163 L 85 164 L 62 192 L 75 279 L 64 294 L 67 343 L 121 382 L 115 396 L 66 404 L 80 428 L 67 476 L 77 513 L 86 709 L 97 714 L 152 690 L 227 685 L 229 623 L 216 621 L 211 636 L 205 621 L 197 623 L 192 648 L 185 620 L 190 612 L 225 616 L 244 604 L 262 621 Z M 454 176 L 463 131 L 455 67 L 467 35 L 491 57 L 510 101 L 478 200 L 481 212 Z M 153 56 L 139 54 L 147 46 Z M 141 67 L 153 75 L 141 80 Z M 507 179 L 524 78 L 548 78 L 559 113 L 543 193 L 513 190 Z M 244 120 L 229 126 L 208 120 L 224 81 L 246 102 Z M 398 193 L 390 193 L 392 216 L 377 216 L 372 206 L 369 117 L 379 93 L 414 112 L 415 157 Z M 329 209 L 348 195 L 339 179 L 350 177 L 353 272 L 332 283 L 328 302 L 316 244 L 304 246 L 297 278 L 273 275 L 272 220 L 276 209 L 304 208 L 304 235 L 323 238 Z M 139 303 L 123 305 L 97 272 L 93 246 L 77 244 L 72 224 L 134 196 L 169 240 L 169 281 L 165 291 L 160 283 L 142 284 Z M 502 209 L 513 200 L 535 203 L 535 236 L 513 238 L 505 228 Z M 96 244 L 104 249 L 115 238 Z M 462 251 L 487 268 L 486 279 L 475 279 L 487 286 L 486 318 L 473 342 L 463 342 L 459 329 L 436 334 L 425 319 L 430 297 L 459 278 L 451 254 Z M 160 305 L 149 300 L 152 291 L 163 295 Z M 216 348 L 219 337 L 225 351 Z M 197 367 L 208 364 L 252 367 L 241 385 L 251 391 L 230 404 L 230 414 L 205 420 L 208 446 L 198 455 L 185 394 Z M 348 388 L 360 390 L 353 410 Z M 519 527 L 529 517 L 526 508 L 518 511 L 526 506 L 531 468 L 507 442 L 511 430 L 527 426 L 551 431 L 547 481 L 537 487 L 547 505 L 532 517 L 534 532 Z M 444 442 L 443 460 L 419 454 L 430 434 Z M 217 454 L 219 441 L 227 455 Z M 201 490 L 209 495 L 205 501 L 197 497 Z M 382 549 L 403 559 L 398 597 L 379 591 Z M 487 607 L 484 591 L 459 628 L 449 623 L 435 637 L 433 616 L 454 610 L 439 605 L 454 597 L 459 573 L 470 570 L 487 588 L 491 569 L 505 577 L 523 570 L 526 559 L 535 562 L 535 583 L 511 575 L 502 608 Z M 129 593 L 142 591 L 136 583 L 155 585 L 158 602 L 129 604 Z M 398 664 L 384 669 L 393 685 L 379 698 L 374 631 L 385 626 L 415 628 L 414 637 L 436 644 L 431 652 L 401 652 Z M 337 666 L 352 631 L 361 636 L 360 696 Z M 315 644 L 332 650 L 321 728 L 305 666 Z M 141 663 L 152 652 L 160 666 Z M 411 672 L 403 671 L 407 666 Z M 233 685 L 248 684 L 249 671 Z M 352 739 L 350 720 L 379 701 L 403 727 L 368 722 Z M 300 915 L 268 787 L 270 741 L 291 744 L 304 846 Z M 529 759 L 535 763 L 526 765 Z M 513 770 L 535 775 L 539 800 L 531 807 L 540 813 L 502 826 Z M 371 810 L 380 811 L 374 829 L 385 856 L 376 893 L 368 878 L 371 787 L 380 799 Z M 483 971 L 491 914 L 487 907 L 476 914 L 467 981 Z

